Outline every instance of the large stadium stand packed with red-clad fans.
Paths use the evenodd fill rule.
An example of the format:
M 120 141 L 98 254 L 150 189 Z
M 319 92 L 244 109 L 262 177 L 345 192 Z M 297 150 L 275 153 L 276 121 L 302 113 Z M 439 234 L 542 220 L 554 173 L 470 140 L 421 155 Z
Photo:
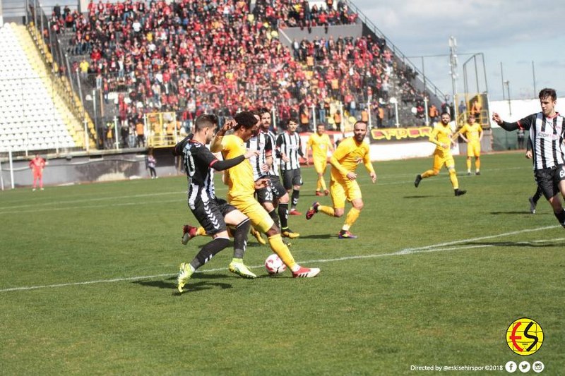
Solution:
M 308 131 L 314 121 L 335 128 L 337 111 L 345 129 L 367 112 L 373 126 L 422 125 L 424 97 L 441 106 L 347 1 L 68 3 L 30 8 L 30 35 L 90 147 L 170 146 L 203 112 L 268 107 L 278 125 L 295 117 Z M 84 144 L 82 124 L 67 128 Z

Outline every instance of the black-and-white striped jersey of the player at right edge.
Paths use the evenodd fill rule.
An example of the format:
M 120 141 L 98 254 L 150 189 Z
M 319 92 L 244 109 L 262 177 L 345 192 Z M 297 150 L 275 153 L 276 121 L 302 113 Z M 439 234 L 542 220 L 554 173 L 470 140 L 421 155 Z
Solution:
M 549 118 L 542 112 L 538 112 L 518 121 L 518 126 L 530 131 L 533 169 L 548 169 L 558 164 L 565 164 L 563 150 L 565 118 L 563 116 L 557 113 Z

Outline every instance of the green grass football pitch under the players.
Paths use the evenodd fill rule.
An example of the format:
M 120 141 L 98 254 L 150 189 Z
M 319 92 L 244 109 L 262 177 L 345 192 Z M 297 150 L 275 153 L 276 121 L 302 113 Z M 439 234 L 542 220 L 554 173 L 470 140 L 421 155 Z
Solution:
M 562 374 L 565 231 L 543 199 L 530 214 L 523 153 L 484 155 L 481 176 L 457 157 L 459 198 L 446 170 L 414 187 L 431 158 L 374 165 L 375 185 L 358 169 L 359 238 L 337 238 L 344 218 L 290 217 L 292 253 L 319 277 L 269 277 L 270 249 L 249 238 L 258 279 L 228 272 L 228 248 L 182 295 L 178 265 L 209 240 L 181 245 L 195 223 L 185 177 L 0 192 L 0 373 L 414 375 L 541 360 Z M 303 178 L 304 213 L 311 167 Z M 532 356 L 506 345 L 520 317 L 544 331 Z

